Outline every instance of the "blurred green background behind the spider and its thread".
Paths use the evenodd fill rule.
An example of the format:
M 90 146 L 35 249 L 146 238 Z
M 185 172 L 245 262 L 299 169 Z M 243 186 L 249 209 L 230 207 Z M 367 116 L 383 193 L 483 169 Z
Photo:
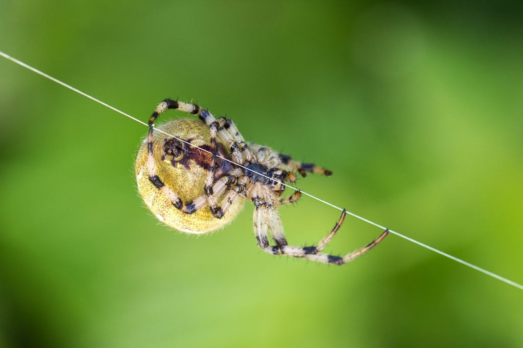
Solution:
M 147 121 L 166 97 L 334 172 L 298 187 L 523 283 L 520 1 L 0 1 L 0 51 Z M 395 235 L 343 267 L 144 208 L 147 128 L 0 59 L 1 347 L 523 346 L 523 292 Z M 184 117 L 169 112 L 163 119 Z M 319 241 L 338 211 L 281 209 Z M 381 231 L 348 218 L 344 254 Z

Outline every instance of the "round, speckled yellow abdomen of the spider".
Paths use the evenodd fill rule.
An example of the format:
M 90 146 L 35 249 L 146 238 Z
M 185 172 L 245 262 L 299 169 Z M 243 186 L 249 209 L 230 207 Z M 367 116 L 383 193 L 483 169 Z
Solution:
M 200 148 L 210 149 L 209 126 L 199 119 L 175 119 L 166 122 L 156 129 L 165 131 L 177 138 L 191 143 Z M 175 191 L 184 203 L 192 202 L 197 197 L 204 195 L 204 187 L 209 172 L 209 163 L 212 155 L 196 147 L 183 144 L 184 151 L 181 155 L 171 155 L 165 152 L 166 141 L 173 139 L 159 131 L 153 133 L 153 160 L 155 174 L 162 180 L 166 187 Z M 218 154 L 230 158 L 228 150 L 218 139 Z M 230 164 L 220 160 L 222 166 Z M 222 171 L 218 171 L 217 179 Z M 173 202 L 150 181 L 149 153 L 147 140 L 138 151 L 135 174 L 137 177 L 138 191 L 147 208 L 164 224 L 186 233 L 206 233 L 220 229 L 231 222 L 243 207 L 244 199 L 236 199 L 228 212 L 221 219 L 213 217 L 209 207 L 205 207 L 192 214 L 185 213 L 173 205 Z

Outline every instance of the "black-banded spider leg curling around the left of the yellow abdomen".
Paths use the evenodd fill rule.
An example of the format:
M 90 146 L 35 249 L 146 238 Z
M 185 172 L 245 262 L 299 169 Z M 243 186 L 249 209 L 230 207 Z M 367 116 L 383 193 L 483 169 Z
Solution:
M 172 99 L 165 99 L 163 102 L 158 104 L 156 106 L 156 109 L 154 110 L 153 114 L 149 118 L 149 133 L 147 134 L 147 155 L 148 155 L 148 164 L 149 164 L 149 181 L 173 203 L 173 206 L 175 206 L 177 209 L 181 210 L 182 212 L 186 214 L 192 214 L 203 207 L 206 206 L 204 202 L 202 202 L 201 199 L 196 198 L 193 202 L 190 202 L 189 204 L 185 204 L 181 201 L 181 199 L 178 197 L 178 194 L 173 191 L 171 188 L 165 186 L 164 182 L 160 177 L 156 175 L 156 163 L 154 161 L 153 156 L 153 130 L 154 130 L 154 121 L 168 109 L 174 109 L 174 110 L 182 110 L 186 111 L 188 113 L 198 115 L 200 119 L 204 122 L 209 122 L 210 120 L 214 120 L 214 116 L 212 116 L 207 110 L 201 109 L 196 104 L 189 104 L 184 102 L 175 101 Z M 213 121 L 213 122 L 214 122 Z M 214 139 L 215 141 L 215 139 Z M 215 144 L 214 144 L 215 145 Z M 212 146 L 212 139 L 211 139 L 211 146 Z M 214 146 L 215 148 L 215 146 Z M 214 151 L 215 152 L 215 151 Z M 213 155 L 213 159 L 215 158 L 215 154 Z M 212 183 L 211 183 L 212 185 Z

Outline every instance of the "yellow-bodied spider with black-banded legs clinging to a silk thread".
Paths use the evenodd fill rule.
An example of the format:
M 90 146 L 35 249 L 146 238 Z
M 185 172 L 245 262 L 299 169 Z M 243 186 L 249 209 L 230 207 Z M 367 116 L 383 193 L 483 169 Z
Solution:
M 175 119 L 155 127 L 157 117 L 168 109 L 199 119 Z M 331 171 L 245 142 L 229 118 L 216 119 L 197 104 L 165 99 L 148 124 L 149 134 L 135 163 L 138 190 L 156 217 L 174 229 L 196 234 L 217 230 L 236 217 L 245 200 L 251 200 L 254 234 L 266 253 L 335 265 L 365 253 L 389 232 L 385 230 L 368 245 L 343 257 L 321 253 L 342 225 L 344 209 L 331 232 L 316 246 L 290 246 L 283 235 L 278 207 L 296 202 L 301 192 L 282 197 L 282 183 L 295 183 L 295 172 L 305 177 L 306 173 L 331 176 Z M 269 236 L 275 245 L 269 244 Z

